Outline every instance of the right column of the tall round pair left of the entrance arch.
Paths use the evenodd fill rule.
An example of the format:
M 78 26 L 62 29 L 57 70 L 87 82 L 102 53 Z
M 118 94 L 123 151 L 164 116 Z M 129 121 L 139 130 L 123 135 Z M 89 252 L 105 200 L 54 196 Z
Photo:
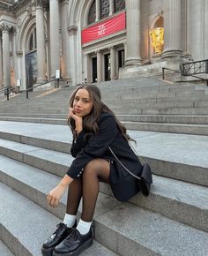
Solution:
M 51 77 L 56 77 L 56 70 L 60 69 L 60 43 L 59 43 L 59 4 L 58 0 L 50 0 L 50 65 Z

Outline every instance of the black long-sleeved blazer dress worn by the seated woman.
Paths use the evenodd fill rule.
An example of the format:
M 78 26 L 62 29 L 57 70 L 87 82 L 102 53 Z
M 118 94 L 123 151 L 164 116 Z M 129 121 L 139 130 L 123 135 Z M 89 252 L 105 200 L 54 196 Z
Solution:
M 123 165 L 135 174 L 140 174 L 142 164 L 132 151 L 128 141 L 117 127 L 110 113 L 102 113 L 98 122 L 99 132 L 85 140 L 85 131 L 79 132 L 73 139 L 71 154 L 75 160 L 71 163 L 67 174 L 76 179 L 85 171 L 85 164 L 96 158 L 107 159 L 110 162 L 110 186 L 115 198 L 127 201 L 139 192 L 137 179 L 132 177 L 123 166 L 116 161 L 108 146 L 112 148 Z

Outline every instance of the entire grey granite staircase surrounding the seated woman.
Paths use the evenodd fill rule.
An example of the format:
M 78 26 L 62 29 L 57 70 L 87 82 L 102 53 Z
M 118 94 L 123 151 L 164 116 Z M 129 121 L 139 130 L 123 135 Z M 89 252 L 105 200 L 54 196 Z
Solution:
M 134 147 L 139 159 L 151 164 L 152 191 L 148 198 L 138 193 L 130 201 L 121 203 L 112 196 L 107 184 L 100 184 L 93 221 L 94 243 L 82 255 L 206 256 L 208 137 L 202 132 L 205 129 L 201 129 L 200 134 L 193 128 L 194 124 L 207 125 L 202 100 L 207 95 L 206 88 L 184 85 L 187 90 L 181 87 L 180 93 L 177 85 L 170 87 L 166 82 L 148 79 L 149 89 L 152 87 L 148 94 L 147 79 L 138 80 L 116 81 L 114 88 L 110 83 L 103 83 L 100 90 L 103 101 L 131 128 L 128 132 L 137 140 Z M 10 102 L 0 103 L 0 255 L 40 256 L 42 242 L 63 219 L 66 193 L 57 208 L 48 206 L 46 194 L 73 161 L 69 154 L 71 131 L 65 125 L 71 90 L 65 88 L 45 95 L 37 92 L 27 101 L 18 95 Z M 162 100 L 164 106 L 164 102 L 171 102 L 172 94 L 178 94 L 175 102 L 184 102 L 184 98 L 190 99 L 195 94 L 204 107 L 195 105 L 193 112 L 189 112 L 188 106 L 180 107 L 179 103 L 166 108 L 163 105 L 145 107 L 146 102 L 137 101 L 141 93 L 142 99 L 146 94 L 148 102 L 151 96 L 158 99 L 159 92 L 166 99 Z M 130 94 L 132 101 L 128 102 Z M 141 107 L 137 108 L 134 100 Z M 193 101 L 199 103 L 199 100 Z M 142 113 L 151 108 L 152 112 L 163 112 Z M 180 113 L 182 108 L 186 109 L 184 113 Z M 131 112 L 136 109 L 137 113 Z M 170 109 L 175 114 L 166 113 Z M 190 128 L 155 132 L 152 127 L 148 130 L 139 129 L 144 126 L 128 126 L 128 122 L 151 125 L 152 121 L 161 127 L 164 123 L 189 124 Z

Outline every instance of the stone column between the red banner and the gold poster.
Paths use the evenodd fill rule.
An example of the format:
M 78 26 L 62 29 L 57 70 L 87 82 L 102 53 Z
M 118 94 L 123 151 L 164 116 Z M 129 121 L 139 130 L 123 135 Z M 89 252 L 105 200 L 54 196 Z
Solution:
M 126 66 L 137 66 L 142 62 L 140 56 L 140 0 L 127 0 L 127 57 Z

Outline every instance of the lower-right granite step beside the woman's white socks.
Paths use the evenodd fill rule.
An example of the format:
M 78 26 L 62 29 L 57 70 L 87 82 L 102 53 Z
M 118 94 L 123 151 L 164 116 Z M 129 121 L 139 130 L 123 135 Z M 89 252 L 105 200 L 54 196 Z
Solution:
M 120 255 L 206 256 L 208 235 L 129 203 L 95 221 L 97 239 Z

